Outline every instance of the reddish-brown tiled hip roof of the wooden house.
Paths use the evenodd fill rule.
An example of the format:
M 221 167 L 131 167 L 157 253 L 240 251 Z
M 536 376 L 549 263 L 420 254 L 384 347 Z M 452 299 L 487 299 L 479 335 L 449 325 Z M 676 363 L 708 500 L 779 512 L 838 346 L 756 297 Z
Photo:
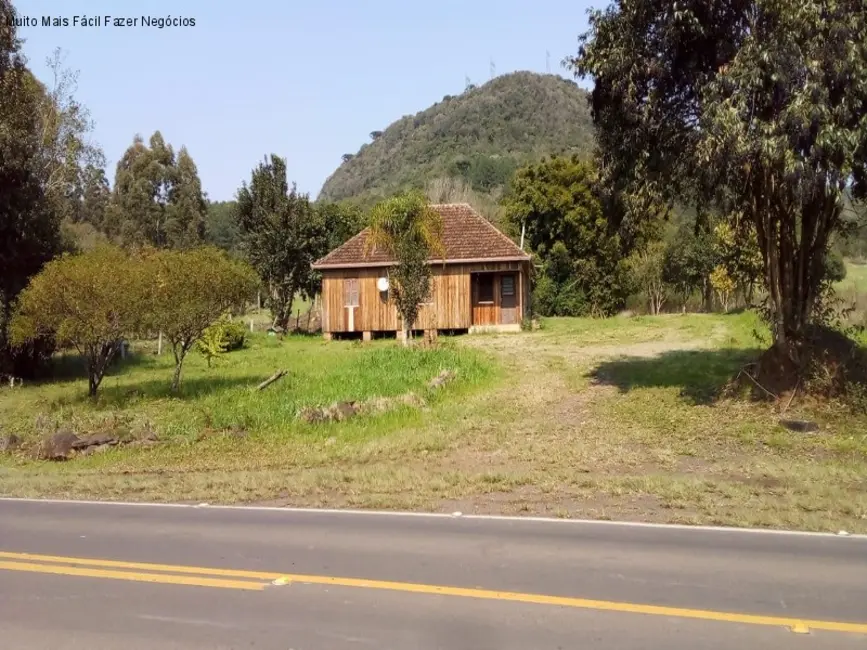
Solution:
M 446 263 L 516 262 L 530 256 L 517 244 L 466 203 L 441 203 L 430 206 L 443 222 L 443 245 Z M 393 257 L 382 249 L 365 254 L 369 228 L 338 246 L 313 263 L 314 269 L 339 269 L 364 266 L 390 266 Z M 431 258 L 431 261 L 442 261 Z

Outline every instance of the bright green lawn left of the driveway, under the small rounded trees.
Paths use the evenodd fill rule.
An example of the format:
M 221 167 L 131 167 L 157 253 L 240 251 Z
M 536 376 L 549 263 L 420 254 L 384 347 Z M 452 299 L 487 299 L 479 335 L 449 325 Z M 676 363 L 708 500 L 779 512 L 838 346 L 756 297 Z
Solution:
M 96 402 L 86 397 L 86 381 L 76 378 L 4 392 L 0 421 L 25 440 L 44 433 L 46 423 L 70 425 L 79 432 L 115 428 L 135 433 L 148 427 L 161 440 L 189 444 L 214 432 L 243 430 L 245 437 L 280 444 L 285 440 L 332 435 L 335 425 L 311 425 L 297 418 L 308 406 L 390 397 L 409 391 L 425 394 L 426 384 L 441 370 L 456 370 L 458 380 L 447 394 L 489 381 L 495 368 L 479 353 L 444 344 L 432 349 L 407 349 L 393 341 L 368 344 L 326 343 L 313 336 L 249 336 L 245 349 L 231 352 L 213 368 L 191 353 L 179 395 L 169 390 L 171 354 L 156 356 L 142 347 L 107 376 Z M 61 360 L 68 373 L 77 357 Z M 263 391 L 253 388 L 272 373 L 288 375 Z M 341 425 L 341 435 L 385 435 L 411 422 L 411 409 L 392 417 L 361 417 Z M 52 426 L 48 427 L 53 428 Z

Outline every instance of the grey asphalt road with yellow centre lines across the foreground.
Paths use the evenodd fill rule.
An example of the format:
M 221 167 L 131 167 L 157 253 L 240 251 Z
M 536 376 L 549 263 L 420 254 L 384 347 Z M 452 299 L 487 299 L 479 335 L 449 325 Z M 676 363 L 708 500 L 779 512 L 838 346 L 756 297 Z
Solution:
M 16 650 L 863 650 L 867 538 L 0 500 L 0 638 Z

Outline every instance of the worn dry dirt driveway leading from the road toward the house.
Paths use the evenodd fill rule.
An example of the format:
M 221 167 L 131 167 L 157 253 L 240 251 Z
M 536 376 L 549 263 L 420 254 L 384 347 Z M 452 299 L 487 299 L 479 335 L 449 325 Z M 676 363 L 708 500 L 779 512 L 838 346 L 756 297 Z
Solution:
M 473 398 L 467 410 L 479 415 L 456 432 L 449 453 L 423 464 L 425 474 L 455 472 L 480 486 L 477 494 L 444 500 L 438 509 L 669 520 L 655 497 L 612 497 L 596 489 L 611 477 L 662 468 L 652 453 L 596 419 L 596 407 L 616 399 L 617 388 L 588 374 L 603 360 L 709 348 L 724 336 L 716 330 L 704 340 L 668 336 L 619 345 L 544 335 L 464 338 L 463 345 L 495 354 L 509 380 Z

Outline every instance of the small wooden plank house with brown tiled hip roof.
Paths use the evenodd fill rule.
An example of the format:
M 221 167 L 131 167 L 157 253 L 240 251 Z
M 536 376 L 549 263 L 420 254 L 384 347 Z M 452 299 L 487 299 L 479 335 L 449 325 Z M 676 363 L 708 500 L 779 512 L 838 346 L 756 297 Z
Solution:
M 431 206 L 442 217 L 445 259 L 431 259 L 432 284 L 414 330 L 519 331 L 529 314 L 530 256 L 465 203 Z M 361 334 L 365 340 L 402 335 L 389 295 L 385 251 L 366 251 L 368 231 L 316 261 L 322 273 L 325 338 Z

